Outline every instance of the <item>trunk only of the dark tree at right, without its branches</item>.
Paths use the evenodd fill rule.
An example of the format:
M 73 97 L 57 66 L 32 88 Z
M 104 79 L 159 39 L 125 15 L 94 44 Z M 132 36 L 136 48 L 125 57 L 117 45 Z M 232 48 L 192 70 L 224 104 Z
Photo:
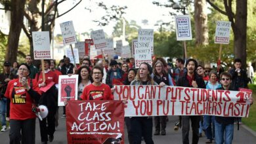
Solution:
M 242 67 L 246 68 L 246 27 L 247 0 L 236 0 L 234 31 L 234 56 L 242 60 Z

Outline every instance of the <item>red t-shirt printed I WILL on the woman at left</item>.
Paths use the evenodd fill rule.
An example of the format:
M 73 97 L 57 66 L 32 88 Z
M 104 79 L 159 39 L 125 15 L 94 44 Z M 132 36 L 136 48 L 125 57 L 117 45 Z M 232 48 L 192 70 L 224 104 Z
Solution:
M 28 79 L 30 85 L 31 79 Z M 41 94 L 37 81 L 32 80 L 33 90 Z M 12 97 L 12 90 L 14 90 L 14 96 Z M 12 120 L 26 120 L 29 118 L 35 118 L 35 113 L 32 112 L 33 100 L 28 94 L 26 88 L 24 88 L 19 79 L 13 79 L 8 83 L 5 97 L 11 99 L 10 105 L 10 119 Z

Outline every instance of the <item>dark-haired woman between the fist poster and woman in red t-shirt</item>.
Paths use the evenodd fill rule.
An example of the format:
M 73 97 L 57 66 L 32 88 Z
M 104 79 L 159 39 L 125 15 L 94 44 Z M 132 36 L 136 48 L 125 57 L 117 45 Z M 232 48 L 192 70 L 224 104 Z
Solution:
M 86 65 L 83 65 L 78 69 L 78 99 L 81 99 L 81 94 L 85 86 L 92 83 L 90 73 L 91 69 Z

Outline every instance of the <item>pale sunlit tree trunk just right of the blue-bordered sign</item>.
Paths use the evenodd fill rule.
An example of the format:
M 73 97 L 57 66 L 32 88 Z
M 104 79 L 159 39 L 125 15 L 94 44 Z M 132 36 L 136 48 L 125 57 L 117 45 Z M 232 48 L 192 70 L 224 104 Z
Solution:
M 195 30 L 196 30 L 196 46 L 208 45 L 208 27 L 206 14 L 206 0 L 194 0 L 195 8 Z

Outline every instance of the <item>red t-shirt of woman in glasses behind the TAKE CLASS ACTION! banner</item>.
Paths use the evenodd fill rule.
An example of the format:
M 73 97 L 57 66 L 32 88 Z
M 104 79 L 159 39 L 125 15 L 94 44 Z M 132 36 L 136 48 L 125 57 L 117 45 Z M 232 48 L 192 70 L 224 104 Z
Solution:
M 81 99 L 83 100 L 113 100 L 114 97 L 112 95 L 110 86 L 108 84 L 101 84 L 100 86 L 95 86 L 93 84 L 89 84 L 85 86 L 83 89 L 83 93 L 81 95 Z

